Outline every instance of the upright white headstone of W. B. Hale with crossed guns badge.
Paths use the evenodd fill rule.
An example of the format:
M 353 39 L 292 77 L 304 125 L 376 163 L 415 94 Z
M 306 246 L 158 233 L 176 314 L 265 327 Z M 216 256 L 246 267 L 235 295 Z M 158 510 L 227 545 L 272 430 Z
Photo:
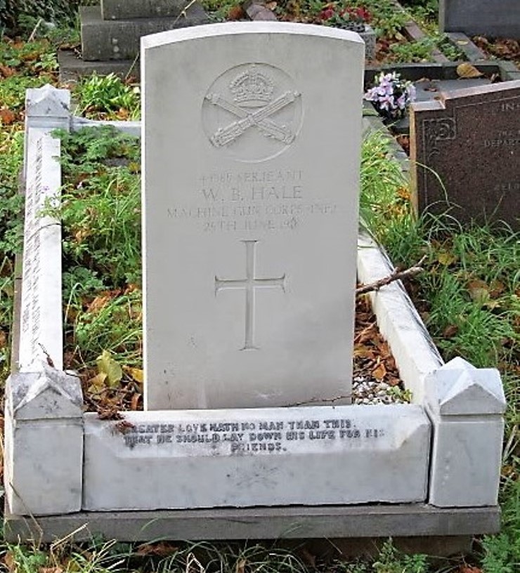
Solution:
M 145 408 L 349 402 L 363 42 L 235 22 L 142 60 Z

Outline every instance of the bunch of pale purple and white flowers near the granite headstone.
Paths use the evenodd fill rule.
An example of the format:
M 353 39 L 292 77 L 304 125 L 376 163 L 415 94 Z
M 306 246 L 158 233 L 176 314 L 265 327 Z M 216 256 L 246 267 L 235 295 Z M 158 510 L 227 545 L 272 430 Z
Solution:
M 397 72 L 381 72 L 375 78 L 374 86 L 365 93 L 365 100 L 372 102 L 386 119 L 404 117 L 415 97 L 415 86 L 411 81 L 402 79 Z

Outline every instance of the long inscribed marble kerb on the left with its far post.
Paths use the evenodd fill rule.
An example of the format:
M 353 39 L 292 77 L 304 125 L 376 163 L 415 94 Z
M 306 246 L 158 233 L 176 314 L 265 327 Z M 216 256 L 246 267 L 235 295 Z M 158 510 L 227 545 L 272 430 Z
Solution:
M 25 225 L 20 304 L 20 372 L 41 371 L 42 363 L 63 365 L 61 225 L 41 211 L 59 201 L 60 140 L 67 129 L 70 93 L 53 86 L 27 90 L 25 98 Z

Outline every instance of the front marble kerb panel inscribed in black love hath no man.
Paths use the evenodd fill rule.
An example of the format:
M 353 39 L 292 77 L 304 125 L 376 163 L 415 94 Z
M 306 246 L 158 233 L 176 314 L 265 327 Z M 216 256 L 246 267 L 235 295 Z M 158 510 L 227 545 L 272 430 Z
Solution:
M 87 414 L 84 509 L 424 501 L 429 437 L 410 404 Z

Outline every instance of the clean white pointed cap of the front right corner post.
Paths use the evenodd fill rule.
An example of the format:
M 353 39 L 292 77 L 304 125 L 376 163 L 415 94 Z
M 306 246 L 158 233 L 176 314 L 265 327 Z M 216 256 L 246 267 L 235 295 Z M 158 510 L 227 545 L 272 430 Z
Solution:
M 498 370 L 475 368 L 460 357 L 429 376 L 427 395 L 441 416 L 502 414 L 506 406 Z

